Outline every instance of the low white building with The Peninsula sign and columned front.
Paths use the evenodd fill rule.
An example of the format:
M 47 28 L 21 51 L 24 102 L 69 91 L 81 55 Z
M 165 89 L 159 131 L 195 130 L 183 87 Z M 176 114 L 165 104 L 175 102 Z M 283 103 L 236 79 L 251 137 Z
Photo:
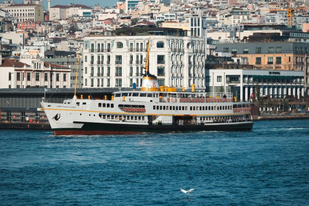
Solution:
M 272 99 L 305 95 L 304 72 L 265 69 L 209 69 L 206 70 L 207 92 L 232 92 L 239 101 L 248 101 L 250 95 L 269 95 Z

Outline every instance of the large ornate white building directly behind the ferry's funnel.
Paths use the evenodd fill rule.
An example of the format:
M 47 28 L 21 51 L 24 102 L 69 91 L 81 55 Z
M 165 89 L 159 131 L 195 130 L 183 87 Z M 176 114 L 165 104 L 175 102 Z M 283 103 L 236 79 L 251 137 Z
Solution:
M 86 37 L 83 50 L 83 87 L 142 85 L 149 36 Z M 205 86 L 204 39 L 151 36 L 150 73 L 160 86 Z

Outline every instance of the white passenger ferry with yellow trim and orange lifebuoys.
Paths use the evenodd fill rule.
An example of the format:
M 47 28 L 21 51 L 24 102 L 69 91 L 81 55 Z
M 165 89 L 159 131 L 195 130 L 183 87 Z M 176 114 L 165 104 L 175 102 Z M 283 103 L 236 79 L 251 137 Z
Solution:
M 236 102 L 232 93 L 177 91 L 159 86 L 149 73 L 149 49 L 140 91 L 117 91 L 107 99 L 75 94 L 63 103 L 41 102 L 55 135 L 109 135 L 221 130 L 250 130 L 250 102 Z M 77 79 L 77 78 L 76 78 Z M 75 84 L 76 85 L 76 84 Z

